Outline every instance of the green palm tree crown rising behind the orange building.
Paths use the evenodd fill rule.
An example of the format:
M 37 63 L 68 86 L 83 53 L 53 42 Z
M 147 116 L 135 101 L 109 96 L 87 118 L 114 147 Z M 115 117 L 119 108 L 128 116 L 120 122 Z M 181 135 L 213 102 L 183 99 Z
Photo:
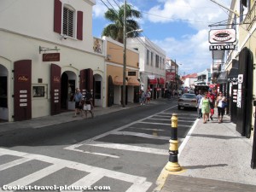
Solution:
M 124 9 L 125 5 L 122 5 L 118 11 L 115 9 L 108 9 L 105 13 L 105 18 L 112 21 L 113 23 L 109 24 L 103 29 L 102 36 L 111 37 L 119 43 L 123 43 L 124 35 Z M 126 32 L 128 38 L 138 37 L 138 32 L 131 32 L 132 30 L 137 30 L 140 28 L 136 20 L 133 20 L 132 17 L 142 18 L 142 14 L 132 9 L 130 4 L 126 5 Z

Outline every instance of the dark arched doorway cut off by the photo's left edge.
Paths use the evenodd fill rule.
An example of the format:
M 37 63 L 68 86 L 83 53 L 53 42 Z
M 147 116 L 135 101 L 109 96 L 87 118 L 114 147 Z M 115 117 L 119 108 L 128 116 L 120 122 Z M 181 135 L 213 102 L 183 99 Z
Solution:
M 0 122 L 9 121 L 8 70 L 0 64 Z

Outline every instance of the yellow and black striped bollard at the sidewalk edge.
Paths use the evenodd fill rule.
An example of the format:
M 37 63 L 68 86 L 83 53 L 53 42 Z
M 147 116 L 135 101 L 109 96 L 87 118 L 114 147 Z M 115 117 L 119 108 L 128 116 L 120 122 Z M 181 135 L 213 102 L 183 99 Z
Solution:
M 179 166 L 177 161 L 178 154 L 178 141 L 177 141 L 177 113 L 172 114 L 172 128 L 171 128 L 171 139 L 169 148 L 169 162 L 166 165 L 166 170 L 169 172 L 179 172 L 181 171 L 181 166 Z

